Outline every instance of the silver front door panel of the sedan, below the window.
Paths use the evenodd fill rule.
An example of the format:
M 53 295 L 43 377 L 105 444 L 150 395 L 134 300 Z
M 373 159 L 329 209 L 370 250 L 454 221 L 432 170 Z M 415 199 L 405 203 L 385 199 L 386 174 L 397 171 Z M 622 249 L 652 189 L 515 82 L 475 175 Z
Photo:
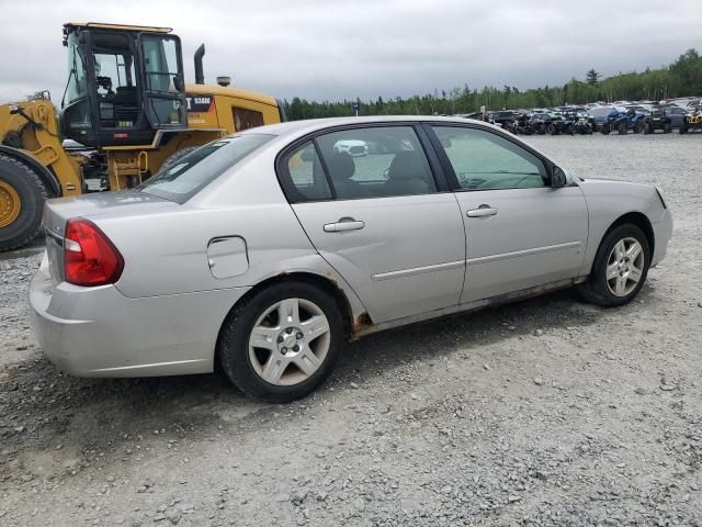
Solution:
M 577 186 L 456 195 L 467 245 L 462 303 L 578 276 L 588 242 L 588 210 Z M 480 208 L 495 213 L 468 216 Z

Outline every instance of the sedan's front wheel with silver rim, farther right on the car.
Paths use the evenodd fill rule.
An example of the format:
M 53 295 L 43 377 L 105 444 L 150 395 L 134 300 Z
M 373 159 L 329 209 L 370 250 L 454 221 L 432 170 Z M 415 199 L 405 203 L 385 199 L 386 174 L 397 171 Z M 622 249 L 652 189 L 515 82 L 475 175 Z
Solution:
M 623 305 L 638 294 L 648 276 L 650 248 L 643 231 L 633 224 L 613 228 L 600 244 L 587 282 L 579 285 L 588 302 Z

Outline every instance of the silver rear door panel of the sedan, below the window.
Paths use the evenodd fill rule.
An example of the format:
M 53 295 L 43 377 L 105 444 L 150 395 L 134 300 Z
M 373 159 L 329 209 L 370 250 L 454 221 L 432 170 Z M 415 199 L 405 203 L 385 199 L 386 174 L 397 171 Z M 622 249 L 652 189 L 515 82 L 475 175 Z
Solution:
M 465 236 L 452 193 L 293 205 L 307 236 L 375 322 L 458 303 Z M 325 232 L 341 218 L 359 229 Z

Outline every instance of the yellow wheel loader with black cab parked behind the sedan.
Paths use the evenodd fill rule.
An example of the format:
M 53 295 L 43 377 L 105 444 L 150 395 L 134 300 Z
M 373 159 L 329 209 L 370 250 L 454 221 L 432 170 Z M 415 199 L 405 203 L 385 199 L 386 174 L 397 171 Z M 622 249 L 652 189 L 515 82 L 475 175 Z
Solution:
M 136 187 L 217 137 L 285 120 L 280 101 L 228 77 L 205 85 L 204 45 L 185 85 L 170 29 L 69 23 L 64 45 L 60 114 L 47 92 L 0 105 L 0 251 L 38 234 L 48 198 Z

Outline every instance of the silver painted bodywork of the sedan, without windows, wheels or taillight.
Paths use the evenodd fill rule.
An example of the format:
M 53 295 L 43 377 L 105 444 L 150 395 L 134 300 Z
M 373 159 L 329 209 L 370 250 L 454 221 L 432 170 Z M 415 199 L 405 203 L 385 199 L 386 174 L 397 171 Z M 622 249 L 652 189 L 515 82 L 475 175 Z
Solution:
M 581 281 L 607 229 L 630 212 L 652 224 L 653 264 L 665 256 L 671 215 L 644 184 L 568 176 L 561 189 L 287 202 L 274 170 L 282 149 L 332 125 L 378 121 L 466 123 L 283 123 L 250 131 L 274 137 L 183 204 L 138 191 L 50 200 L 48 254 L 30 288 L 44 352 L 78 375 L 212 371 L 230 310 L 252 288 L 295 273 L 340 290 L 352 338 L 471 311 Z M 468 215 L 480 205 L 497 213 Z M 115 284 L 64 281 L 61 238 L 75 216 L 94 222 L 124 256 Z M 344 218 L 362 228 L 325 229 Z

